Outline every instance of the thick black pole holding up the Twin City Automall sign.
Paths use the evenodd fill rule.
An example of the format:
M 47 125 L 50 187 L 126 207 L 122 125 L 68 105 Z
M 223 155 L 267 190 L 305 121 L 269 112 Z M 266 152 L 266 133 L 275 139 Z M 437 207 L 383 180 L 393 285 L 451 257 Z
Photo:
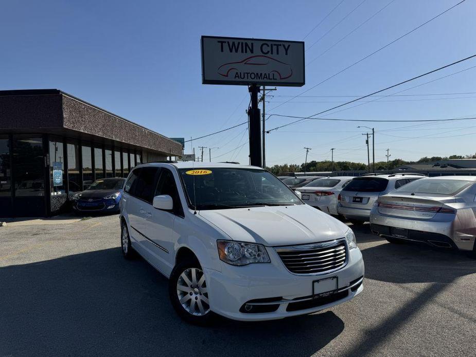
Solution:
M 251 108 L 248 110 L 250 122 L 250 164 L 262 167 L 261 161 L 261 118 L 258 108 L 259 87 L 256 84 L 248 88 L 251 94 Z

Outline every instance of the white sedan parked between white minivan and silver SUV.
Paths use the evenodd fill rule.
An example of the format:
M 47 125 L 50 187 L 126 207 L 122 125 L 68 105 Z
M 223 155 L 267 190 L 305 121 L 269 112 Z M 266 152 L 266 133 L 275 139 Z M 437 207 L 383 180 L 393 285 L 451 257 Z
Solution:
M 337 216 L 337 197 L 352 179 L 354 176 L 324 177 L 296 188 L 296 191 L 301 192 L 302 200 L 308 205 Z

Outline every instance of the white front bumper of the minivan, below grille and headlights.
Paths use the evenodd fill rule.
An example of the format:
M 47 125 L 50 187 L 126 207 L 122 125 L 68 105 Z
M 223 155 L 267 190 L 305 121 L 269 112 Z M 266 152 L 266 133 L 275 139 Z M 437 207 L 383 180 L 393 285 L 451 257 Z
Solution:
M 292 274 L 273 248 L 267 248 L 267 251 L 271 263 L 233 266 L 221 262 L 221 272 L 205 269 L 211 311 L 243 321 L 279 319 L 342 304 L 363 290 L 364 263 L 359 249 L 351 249 L 342 269 L 318 275 Z M 338 292 L 314 299 L 313 281 L 328 277 L 338 277 Z M 266 307 L 251 313 L 243 310 L 246 303 Z

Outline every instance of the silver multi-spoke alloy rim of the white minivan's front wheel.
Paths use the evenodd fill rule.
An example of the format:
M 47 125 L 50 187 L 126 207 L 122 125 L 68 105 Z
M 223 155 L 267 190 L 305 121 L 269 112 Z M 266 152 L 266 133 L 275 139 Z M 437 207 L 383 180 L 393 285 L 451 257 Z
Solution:
M 203 316 L 210 311 L 205 275 L 198 268 L 188 268 L 180 274 L 177 295 L 182 307 L 192 315 Z

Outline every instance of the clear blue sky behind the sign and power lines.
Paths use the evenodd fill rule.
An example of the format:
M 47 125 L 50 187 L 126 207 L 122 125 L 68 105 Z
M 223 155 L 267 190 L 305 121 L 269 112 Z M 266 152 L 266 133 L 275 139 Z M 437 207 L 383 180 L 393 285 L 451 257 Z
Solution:
M 344 0 L 305 38 L 309 48 L 325 34 L 306 50 L 306 85 L 278 87 L 274 97 L 269 98 L 267 112 L 309 116 L 352 99 L 342 96 L 372 93 L 473 55 L 476 3 L 467 0 L 342 74 L 282 103 L 457 2 Z M 245 121 L 249 102 L 245 86 L 201 84 L 201 35 L 300 41 L 339 3 L 340 0 L 4 2 L 0 12 L 0 87 L 58 88 L 164 135 L 198 137 Z M 383 94 L 407 90 L 472 66 L 476 66 L 476 59 Z M 325 117 L 412 120 L 476 116 L 474 83 L 476 68 L 420 85 L 400 96 L 326 113 Z M 427 95 L 442 93 L 464 94 Z M 279 108 L 273 110 L 277 105 Z M 289 121 L 292 119 L 272 116 L 267 127 Z M 391 158 L 408 160 L 476 152 L 476 120 L 417 124 L 375 123 L 376 160 L 385 159 L 386 148 L 390 148 Z M 310 120 L 274 131 L 267 135 L 267 164 L 300 164 L 304 162 L 303 147 L 312 148 L 309 160 L 330 159 L 330 148 L 336 148 L 336 160 L 365 162 L 366 147 L 358 125 Z M 219 147 L 213 149 L 212 158 L 246 163 L 246 141 L 248 133 L 241 126 L 195 140 L 193 146 Z M 185 151 L 191 151 L 190 143 Z M 208 160 L 208 152 L 205 159 Z

